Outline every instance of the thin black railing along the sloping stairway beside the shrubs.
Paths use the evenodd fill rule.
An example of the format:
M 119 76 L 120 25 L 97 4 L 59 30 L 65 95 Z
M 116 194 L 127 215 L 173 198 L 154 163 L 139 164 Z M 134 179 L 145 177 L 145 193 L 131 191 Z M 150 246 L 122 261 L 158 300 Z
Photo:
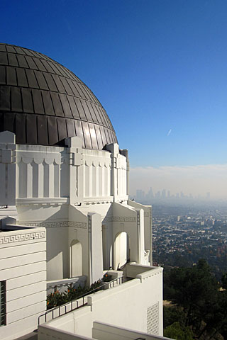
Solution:
M 60 306 L 52 308 L 51 310 L 47 310 L 44 314 L 41 314 L 38 317 L 38 325 L 41 324 L 41 318 L 43 318 L 45 320 L 45 321 L 43 320 L 43 322 L 47 322 L 47 321 L 50 321 L 52 319 L 56 319 L 57 317 L 61 317 L 62 315 L 67 314 L 69 312 L 72 312 L 73 310 L 77 310 L 80 307 L 86 306 L 88 295 L 94 294 L 94 293 L 96 293 L 100 290 L 113 288 L 114 283 L 116 283 L 116 285 L 119 285 L 119 284 L 122 283 L 122 281 L 123 281 L 123 276 L 121 276 L 120 278 L 115 278 L 114 280 L 111 280 L 109 282 L 105 282 L 103 285 L 99 285 L 99 287 L 97 287 L 93 290 L 89 290 L 89 292 L 87 292 L 83 295 L 80 295 L 75 300 L 71 300 L 71 301 L 65 303 L 65 305 L 60 305 Z

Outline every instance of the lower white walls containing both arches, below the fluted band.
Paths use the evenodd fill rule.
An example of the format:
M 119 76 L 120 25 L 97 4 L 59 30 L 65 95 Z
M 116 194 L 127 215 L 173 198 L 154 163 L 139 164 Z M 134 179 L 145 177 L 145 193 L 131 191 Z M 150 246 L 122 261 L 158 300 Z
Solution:
M 116 269 L 119 263 L 120 266 L 123 265 L 126 257 L 130 261 L 145 263 L 143 211 L 142 208 L 133 208 L 116 202 L 87 203 L 82 206 L 44 203 L 18 206 L 18 214 L 22 219 L 19 221 L 20 224 L 45 227 L 47 230 L 48 280 L 72 277 L 70 245 L 78 241 L 82 245 L 81 275 L 88 277 L 88 284 L 101 278 L 103 268 Z M 89 228 L 91 214 L 96 214 L 92 229 Z M 44 222 L 40 217 L 43 217 Z M 115 249 L 116 237 L 121 232 L 128 235 L 127 256 L 123 245 L 126 243 L 124 237 L 121 237 L 120 242 L 122 251 L 116 252 Z M 91 235 L 92 239 L 96 238 L 93 243 Z M 92 258 L 97 258 L 97 254 L 99 261 L 92 261 Z

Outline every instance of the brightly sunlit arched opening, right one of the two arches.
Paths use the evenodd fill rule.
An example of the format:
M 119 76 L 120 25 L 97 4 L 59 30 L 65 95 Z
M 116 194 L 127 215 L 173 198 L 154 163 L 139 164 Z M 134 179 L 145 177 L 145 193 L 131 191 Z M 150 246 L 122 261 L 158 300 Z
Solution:
M 121 268 L 130 260 L 130 239 L 126 232 L 119 232 L 114 242 L 114 269 Z

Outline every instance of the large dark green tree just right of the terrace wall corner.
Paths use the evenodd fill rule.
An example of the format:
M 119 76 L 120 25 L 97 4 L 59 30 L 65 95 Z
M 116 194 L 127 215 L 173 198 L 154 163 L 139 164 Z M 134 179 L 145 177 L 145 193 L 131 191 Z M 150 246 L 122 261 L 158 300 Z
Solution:
M 199 260 L 192 268 L 173 268 L 165 285 L 169 288 L 168 298 L 183 308 L 186 326 L 198 331 L 203 321 L 214 324 L 214 314 L 218 310 L 218 283 L 205 260 Z

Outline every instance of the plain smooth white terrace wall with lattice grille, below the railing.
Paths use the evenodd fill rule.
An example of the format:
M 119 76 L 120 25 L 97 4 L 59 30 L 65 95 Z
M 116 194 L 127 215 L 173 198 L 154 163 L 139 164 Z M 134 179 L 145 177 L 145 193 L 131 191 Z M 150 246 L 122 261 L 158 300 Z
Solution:
M 94 321 L 162 336 L 162 268 L 115 288 L 89 295 L 89 306 L 48 322 L 74 334 L 92 336 Z

